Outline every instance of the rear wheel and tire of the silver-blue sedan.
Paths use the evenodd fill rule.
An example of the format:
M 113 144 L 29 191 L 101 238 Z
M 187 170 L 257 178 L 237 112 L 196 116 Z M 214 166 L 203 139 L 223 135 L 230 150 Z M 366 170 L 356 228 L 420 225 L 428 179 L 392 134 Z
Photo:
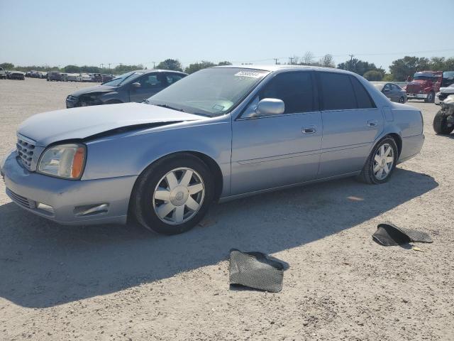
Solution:
M 384 148 L 382 148 L 383 146 Z M 389 152 L 388 147 L 391 148 Z M 389 156 L 391 153 L 392 156 Z M 386 183 L 391 178 L 392 173 L 394 173 L 398 153 L 396 141 L 392 137 L 384 137 L 384 139 L 372 148 L 360 175 L 358 175 L 358 180 L 374 185 Z M 380 154 L 383 154 L 383 157 Z M 391 157 L 392 160 L 389 159 Z M 380 170 L 382 173 L 380 173 Z

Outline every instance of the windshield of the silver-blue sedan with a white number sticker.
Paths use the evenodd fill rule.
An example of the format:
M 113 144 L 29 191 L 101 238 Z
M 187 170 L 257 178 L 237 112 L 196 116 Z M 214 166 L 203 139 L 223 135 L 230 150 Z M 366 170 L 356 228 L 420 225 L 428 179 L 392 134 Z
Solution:
M 148 99 L 148 103 L 215 117 L 235 107 L 269 72 L 214 67 L 194 72 Z

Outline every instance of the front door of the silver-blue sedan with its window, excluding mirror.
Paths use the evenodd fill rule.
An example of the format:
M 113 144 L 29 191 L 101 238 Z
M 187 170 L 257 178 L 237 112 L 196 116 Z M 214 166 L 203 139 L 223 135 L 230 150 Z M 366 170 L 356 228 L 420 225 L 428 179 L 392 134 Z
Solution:
M 248 117 L 264 98 L 282 99 L 284 114 Z M 321 129 L 313 72 L 275 75 L 262 87 L 243 117 L 232 122 L 231 194 L 316 178 Z

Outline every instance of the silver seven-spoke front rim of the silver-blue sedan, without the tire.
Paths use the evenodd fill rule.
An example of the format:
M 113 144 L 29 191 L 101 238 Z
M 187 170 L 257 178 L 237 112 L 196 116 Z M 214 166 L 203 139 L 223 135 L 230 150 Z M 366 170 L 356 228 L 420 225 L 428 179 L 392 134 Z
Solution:
M 175 168 L 157 183 L 153 208 L 162 222 L 183 224 L 199 212 L 204 196 L 204 180 L 199 173 L 191 168 Z

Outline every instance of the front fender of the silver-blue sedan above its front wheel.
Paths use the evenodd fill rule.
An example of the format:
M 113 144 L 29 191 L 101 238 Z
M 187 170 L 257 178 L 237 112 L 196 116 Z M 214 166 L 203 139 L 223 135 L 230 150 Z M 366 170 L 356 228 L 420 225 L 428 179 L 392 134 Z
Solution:
M 224 188 L 230 188 L 230 119 L 182 122 L 89 141 L 82 180 L 140 175 L 163 156 L 182 151 L 212 158 L 221 169 Z

